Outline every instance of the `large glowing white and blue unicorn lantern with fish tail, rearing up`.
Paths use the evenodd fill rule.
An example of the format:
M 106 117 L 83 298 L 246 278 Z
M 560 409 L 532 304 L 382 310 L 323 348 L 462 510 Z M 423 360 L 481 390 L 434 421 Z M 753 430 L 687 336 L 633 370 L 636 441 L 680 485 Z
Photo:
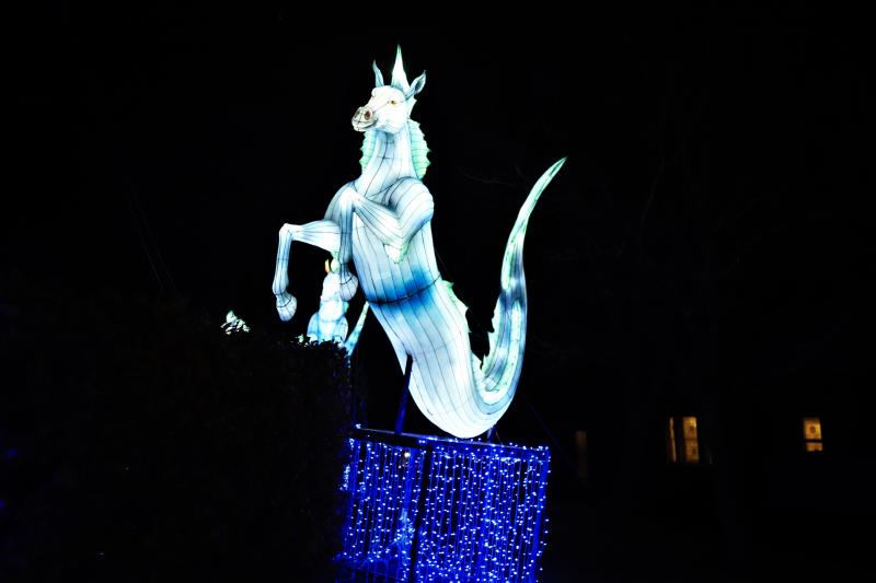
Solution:
M 373 65 L 376 88 L 356 110 L 353 128 L 365 133 L 361 175 L 334 196 L 325 218 L 280 229 L 274 294 L 280 318 L 295 314 L 288 285 L 293 241 L 331 252 L 339 263 L 341 296 L 361 285 L 404 369 L 413 358 L 410 390 L 420 411 L 457 438 L 493 427 L 514 398 L 523 362 L 527 292 L 523 237 L 529 215 L 563 165 L 551 166 L 533 186 L 511 230 L 502 264 L 502 291 L 493 314 L 489 352 L 472 354 L 465 305 L 441 279 L 433 248 L 434 203 L 420 178 L 428 161 L 419 125 L 410 119 L 426 74 L 408 83 L 397 51 L 392 82 Z M 356 276 L 349 271 L 349 260 Z

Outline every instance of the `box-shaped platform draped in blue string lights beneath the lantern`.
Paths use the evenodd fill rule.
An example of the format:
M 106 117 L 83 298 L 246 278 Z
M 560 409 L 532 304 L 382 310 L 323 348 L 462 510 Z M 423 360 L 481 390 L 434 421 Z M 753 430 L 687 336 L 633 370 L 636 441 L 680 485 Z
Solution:
M 545 446 L 357 428 L 342 572 L 368 581 L 537 581 Z

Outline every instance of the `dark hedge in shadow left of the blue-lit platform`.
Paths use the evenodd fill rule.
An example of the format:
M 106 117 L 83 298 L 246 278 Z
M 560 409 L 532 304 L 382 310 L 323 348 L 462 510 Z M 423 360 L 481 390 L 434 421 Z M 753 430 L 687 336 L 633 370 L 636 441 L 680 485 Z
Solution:
M 2 302 L 0 579 L 327 578 L 349 404 L 335 345 L 33 291 Z

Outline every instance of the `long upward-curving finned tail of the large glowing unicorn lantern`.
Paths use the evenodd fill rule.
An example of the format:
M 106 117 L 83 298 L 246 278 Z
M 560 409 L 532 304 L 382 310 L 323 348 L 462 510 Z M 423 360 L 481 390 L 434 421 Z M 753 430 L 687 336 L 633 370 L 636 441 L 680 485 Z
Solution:
M 493 331 L 488 335 L 489 352 L 483 364 L 472 355 L 480 401 L 477 406 L 483 413 L 494 419 L 498 419 L 510 405 L 523 365 L 527 331 L 523 240 L 529 215 L 565 162 L 565 158 L 558 160 L 541 175 L 517 214 L 502 260 L 502 291 L 493 311 Z

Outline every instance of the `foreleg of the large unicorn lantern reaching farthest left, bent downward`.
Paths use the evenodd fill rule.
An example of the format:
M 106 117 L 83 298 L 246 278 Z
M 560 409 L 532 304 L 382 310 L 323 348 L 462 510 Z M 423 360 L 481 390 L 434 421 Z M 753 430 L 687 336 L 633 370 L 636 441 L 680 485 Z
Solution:
M 272 290 L 277 296 L 277 312 L 284 322 L 292 318 L 298 306 L 298 301 L 286 289 L 289 285 L 289 247 L 295 241 L 337 254 L 341 249 L 341 229 L 334 221 L 325 220 L 302 225 L 287 223 L 280 228 Z

